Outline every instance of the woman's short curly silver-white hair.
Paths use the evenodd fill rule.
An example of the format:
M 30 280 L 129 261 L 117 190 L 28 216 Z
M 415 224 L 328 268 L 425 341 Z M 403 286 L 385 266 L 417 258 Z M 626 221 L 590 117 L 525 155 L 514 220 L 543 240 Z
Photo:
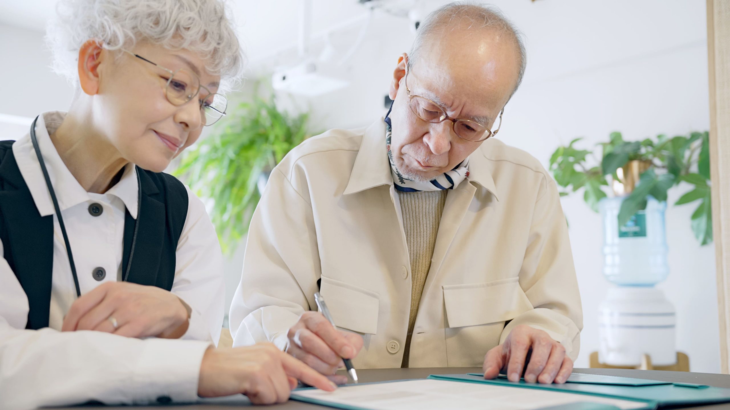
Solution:
M 78 84 L 80 47 L 98 40 L 107 50 L 149 41 L 191 50 L 220 75 L 220 92 L 241 80 L 245 58 L 226 4 L 220 0 L 61 0 L 47 26 L 53 71 Z

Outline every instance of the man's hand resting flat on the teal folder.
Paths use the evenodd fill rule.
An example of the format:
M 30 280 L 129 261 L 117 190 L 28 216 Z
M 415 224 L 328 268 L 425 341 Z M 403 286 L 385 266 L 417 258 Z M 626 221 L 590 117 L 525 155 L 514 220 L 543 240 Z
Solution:
M 494 379 L 502 372 L 510 382 L 518 382 L 523 369 L 525 382 L 565 383 L 573 371 L 573 360 L 566 356 L 565 347 L 544 330 L 519 325 L 503 344 L 487 352 L 484 378 Z

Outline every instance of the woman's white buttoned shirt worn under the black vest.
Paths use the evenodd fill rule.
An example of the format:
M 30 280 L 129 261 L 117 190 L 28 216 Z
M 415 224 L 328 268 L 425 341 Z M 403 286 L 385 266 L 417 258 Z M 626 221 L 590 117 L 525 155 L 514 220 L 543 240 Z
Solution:
M 64 218 L 82 295 L 120 280 L 125 211 L 137 218 L 137 172 L 128 164 L 103 194 L 88 193 L 51 142 L 64 112 L 46 112 L 36 136 Z M 20 174 L 41 216 L 55 214 L 30 134 L 12 145 Z M 186 188 L 187 189 L 187 188 Z M 130 339 L 109 333 L 61 333 L 76 301 L 74 280 L 58 218 L 53 217 L 53 279 L 49 327 L 25 330 L 28 298 L 2 258 L 0 242 L 0 408 L 26 409 L 89 400 L 146 403 L 159 397 L 194 401 L 202 355 L 218 343 L 223 322 L 222 255 L 205 207 L 189 189 L 188 214 L 177 243 L 172 293 L 192 308 L 180 340 Z M 93 216 L 91 204 L 102 212 Z M 12 240 L 12 239 L 11 239 Z M 93 271 L 104 268 L 96 280 Z

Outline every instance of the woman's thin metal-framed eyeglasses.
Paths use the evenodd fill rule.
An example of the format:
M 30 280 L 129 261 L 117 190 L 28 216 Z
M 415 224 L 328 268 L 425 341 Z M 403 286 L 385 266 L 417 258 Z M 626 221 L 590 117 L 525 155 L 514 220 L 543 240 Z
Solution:
M 198 77 L 197 74 L 186 69 L 172 71 L 171 69 L 166 69 L 157 63 L 147 60 L 147 58 L 144 58 L 141 55 L 134 54 L 129 50 L 122 49 L 122 51 L 137 57 L 142 61 L 150 63 L 153 66 L 157 66 L 169 74 L 168 78 L 163 76 L 161 77 L 167 81 L 165 85 L 165 96 L 167 101 L 170 101 L 170 103 L 175 106 L 185 104 L 195 98 L 195 96 L 201 92 L 201 89 L 205 90 L 204 98 L 200 99 L 201 120 L 203 125 L 213 125 L 216 121 L 220 120 L 220 117 L 226 115 L 226 107 L 228 106 L 228 100 L 226 100 L 226 97 L 218 93 L 211 93 L 210 90 L 200 85 L 200 77 Z M 203 96 L 202 93 L 201 96 Z

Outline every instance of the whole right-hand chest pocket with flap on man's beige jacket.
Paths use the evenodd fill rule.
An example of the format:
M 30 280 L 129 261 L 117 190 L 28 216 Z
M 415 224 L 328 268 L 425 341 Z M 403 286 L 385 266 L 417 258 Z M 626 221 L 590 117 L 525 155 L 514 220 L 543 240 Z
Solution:
M 532 305 L 518 278 L 466 285 L 445 285 L 446 355 L 449 366 L 481 366 L 499 344 L 504 322 Z

